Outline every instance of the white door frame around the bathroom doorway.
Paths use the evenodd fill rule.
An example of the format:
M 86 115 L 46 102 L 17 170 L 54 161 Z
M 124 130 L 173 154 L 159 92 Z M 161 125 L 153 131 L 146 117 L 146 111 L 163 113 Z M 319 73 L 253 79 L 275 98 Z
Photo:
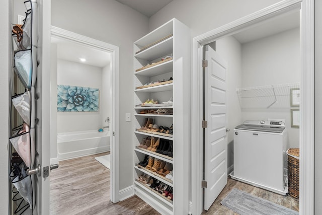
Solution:
M 51 26 L 51 36 L 100 49 L 111 54 L 112 123 L 110 125 L 110 198 L 119 201 L 119 47 L 90 37 Z M 56 110 L 55 110 L 56 111 Z

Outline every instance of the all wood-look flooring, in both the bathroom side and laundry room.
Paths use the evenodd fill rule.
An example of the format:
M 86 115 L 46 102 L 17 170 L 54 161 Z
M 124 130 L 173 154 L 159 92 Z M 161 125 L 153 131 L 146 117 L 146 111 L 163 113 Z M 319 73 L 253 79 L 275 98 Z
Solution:
M 59 168 L 50 175 L 50 214 L 159 214 L 139 197 L 133 196 L 118 203 L 110 201 L 110 171 L 94 158 L 85 156 L 59 162 Z M 282 196 L 228 178 L 228 183 L 208 211 L 202 214 L 237 214 L 220 204 L 237 188 L 298 211 L 298 200 Z

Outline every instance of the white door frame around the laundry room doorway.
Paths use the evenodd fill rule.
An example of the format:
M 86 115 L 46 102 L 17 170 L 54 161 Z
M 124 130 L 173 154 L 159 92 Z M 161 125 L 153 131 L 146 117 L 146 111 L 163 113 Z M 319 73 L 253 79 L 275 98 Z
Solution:
M 205 44 L 233 35 L 253 25 L 292 11 L 300 12 L 301 119 L 300 122 L 300 214 L 314 213 L 314 0 L 285 0 L 211 30 L 192 41 L 192 141 L 202 143 L 202 48 Z M 305 73 L 304 73 L 305 71 Z M 304 145 L 305 143 L 305 145 Z M 202 212 L 202 144 L 192 144 L 191 213 Z

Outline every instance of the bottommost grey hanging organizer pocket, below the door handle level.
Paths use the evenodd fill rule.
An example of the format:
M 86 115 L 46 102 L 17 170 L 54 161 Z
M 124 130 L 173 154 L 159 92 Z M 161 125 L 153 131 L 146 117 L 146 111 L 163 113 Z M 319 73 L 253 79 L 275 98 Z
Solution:
M 10 177 L 12 179 L 13 185 L 16 187 L 17 191 L 23 197 L 23 199 L 29 203 L 30 208 L 32 205 L 32 184 L 31 177 L 28 175 L 24 167 L 14 165 L 12 171 L 10 172 Z

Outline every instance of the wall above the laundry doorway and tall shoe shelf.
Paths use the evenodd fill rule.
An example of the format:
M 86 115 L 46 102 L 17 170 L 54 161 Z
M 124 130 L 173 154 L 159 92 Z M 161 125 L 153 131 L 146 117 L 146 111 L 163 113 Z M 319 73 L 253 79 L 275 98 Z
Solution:
M 177 18 L 190 27 L 193 38 L 277 2 L 280 0 L 175 0 L 150 17 L 149 30 Z

